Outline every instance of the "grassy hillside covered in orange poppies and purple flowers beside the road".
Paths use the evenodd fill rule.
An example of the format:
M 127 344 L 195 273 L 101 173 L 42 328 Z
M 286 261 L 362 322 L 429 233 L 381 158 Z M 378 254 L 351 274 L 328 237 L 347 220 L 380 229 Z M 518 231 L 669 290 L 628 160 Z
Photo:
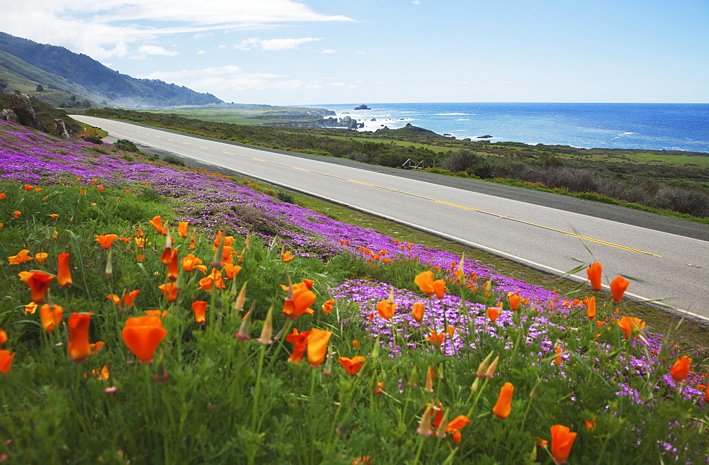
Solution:
M 0 122 L 2 460 L 709 456 L 678 325 L 259 189 Z

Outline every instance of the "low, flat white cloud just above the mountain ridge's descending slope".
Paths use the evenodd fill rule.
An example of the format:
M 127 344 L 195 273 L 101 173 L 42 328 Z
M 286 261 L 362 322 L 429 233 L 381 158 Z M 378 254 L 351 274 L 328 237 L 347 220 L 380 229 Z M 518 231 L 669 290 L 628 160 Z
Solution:
M 295 90 L 303 88 L 300 79 L 274 73 L 249 73 L 237 66 L 184 69 L 175 72 L 152 72 L 145 79 L 160 79 L 201 92 L 262 91 L 268 89 Z

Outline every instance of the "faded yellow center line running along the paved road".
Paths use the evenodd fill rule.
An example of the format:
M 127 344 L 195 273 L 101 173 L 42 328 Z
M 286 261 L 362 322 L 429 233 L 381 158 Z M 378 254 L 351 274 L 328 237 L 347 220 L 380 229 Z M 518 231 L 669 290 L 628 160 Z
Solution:
M 436 199 L 436 198 L 430 198 L 430 197 L 426 197 L 426 196 L 421 196 L 421 195 L 419 195 L 419 194 L 412 194 L 411 192 L 400 191 L 400 190 L 398 190 L 398 189 L 392 189 L 391 187 L 378 186 L 378 185 L 376 185 L 376 184 L 369 184 L 369 183 L 363 182 L 363 181 L 357 181 L 357 180 L 354 180 L 354 179 L 349 179 L 349 178 L 345 178 L 345 177 L 335 176 L 335 174 L 328 174 L 328 173 L 313 171 L 313 170 L 311 170 L 311 169 L 305 169 L 305 168 L 300 168 L 300 167 L 294 167 L 294 166 L 292 166 L 292 165 L 290 165 L 290 164 L 285 164 L 285 163 L 280 163 L 280 162 L 272 162 L 271 160 L 262 159 L 262 158 L 257 158 L 257 157 L 251 157 L 250 155 L 241 155 L 241 154 L 238 154 L 238 153 L 235 153 L 235 152 L 229 152 L 229 151 L 227 151 L 227 150 L 218 150 L 218 149 L 214 149 L 214 148 L 212 148 L 212 147 L 205 147 L 205 146 L 203 146 L 203 145 L 193 144 L 193 143 L 191 143 L 191 142 L 184 142 L 184 141 L 182 141 L 182 140 L 174 140 L 174 139 L 170 139 L 170 138 L 165 138 L 165 137 L 162 137 L 162 136 L 160 136 L 160 135 L 154 135 L 154 134 L 149 134 L 149 133 L 143 133 L 143 132 L 141 132 L 141 131 L 134 130 L 134 129 L 130 129 L 130 130 L 133 130 L 135 133 L 139 133 L 139 134 L 143 134 L 143 135 L 148 135 L 148 136 L 151 136 L 151 137 L 154 137 L 154 138 L 160 138 L 160 139 L 164 139 L 164 140 L 169 140 L 170 142 L 178 142 L 178 143 L 184 144 L 184 145 L 191 145 L 191 146 L 193 146 L 193 147 L 199 147 L 199 148 L 204 149 L 204 150 L 212 150 L 212 151 L 214 151 L 214 152 L 221 152 L 221 153 L 223 153 L 223 154 L 225 154 L 225 155 L 235 155 L 235 156 L 237 156 L 237 157 L 252 159 L 252 160 L 257 161 L 257 162 L 264 162 L 264 163 L 276 164 L 276 165 L 279 165 L 279 166 L 281 166 L 281 167 L 286 167 L 286 168 L 291 168 L 291 169 L 298 169 L 299 171 L 302 171 L 302 172 L 309 172 L 309 173 L 313 173 L 313 174 L 320 174 L 320 175 L 322 175 L 322 176 L 327 176 L 327 177 L 331 177 L 331 178 L 335 178 L 335 179 L 340 179 L 340 180 L 342 180 L 342 181 L 348 181 L 348 182 L 352 182 L 352 183 L 354 183 L 354 184 L 362 184 L 363 186 L 374 187 L 374 188 L 376 188 L 376 189 L 384 189 L 385 191 L 396 192 L 396 193 L 398 193 L 398 194 L 405 194 L 405 195 L 408 195 L 408 196 L 412 196 L 412 197 L 416 197 L 416 198 L 421 198 L 421 199 L 423 199 L 423 200 L 427 200 L 427 201 L 431 201 L 431 202 L 435 202 L 435 203 L 440 203 L 440 204 L 442 204 L 442 205 L 446 205 L 446 206 L 450 206 L 450 207 L 454 207 L 454 208 L 460 208 L 460 209 L 462 209 L 462 210 L 473 211 L 473 212 L 475 212 L 475 213 L 483 213 L 483 214 L 485 214 L 485 215 L 495 216 L 495 217 L 497 217 L 497 218 L 501 218 L 501 219 L 504 219 L 504 220 L 515 221 L 515 222 L 517 222 L 517 223 L 523 223 L 523 224 L 525 224 L 525 225 L 535 226 L 535 227 L 537 227 L 537 228 L 542 228 L 542 229 L 549 230 L 549 231 L 560 232 L 560 233 L 562 233 L 562 234 L 569 235 L 569 236 L 571 236 L 571 237 L 578 237 L 578 238 L 581 239 L 581 240 L 587 240 L 587 241 L 589 241 L 589 242 L 596 242 L 597 244 L 608 245 L 609 247 L 615 247 L 615 248 L 620 249 L 620 250 L 627 250 L 628 252 L 635 252 L 635 253 L 637 253 L 637 254 L 652 255 L 653 257 L 662 257 L 662 255 L 653 254 L 652 252 L 645 252 L 644 250 L 637 250 L 637 249 L 633 249 L 632 247 L 625 247 L 624 245 L 614 244 L 613 242 L 607 242 L 607 241 L 605 241 L 605 240 L 593 239 L 593 237 L 587 237 L 587 236 L 578 235 L 578 234 L 576 234 L 576 232 L 569 232 L 569 231 L 564 231 L 564 230 L 560 230 L 560 229 L 557 229 L 557 228 L 551 228 L 551 227 L 549 227 L 549 226 L 540 225 L 540 224 L 537 224 L 537 223 L 531 223 L 530 221 L 520 220 L 520 219 L 518 219 L 518 218 L 511 218 L 511 217 L 509 217 L 509 216 L 500 215 L 500 214 L 498 214 L 498 213 L 492 213 L 492 212 L 489 212 L 489 211 L 479 210 L 479 209 L 477 209 L 477 208 L 471 208 L 471 207 L 467 207 L 467 206 L 457 205 L 457 203 L 450 203 L 450 202 L 438 200 L 438 199 Z M 216 142 L 219 142 L 219 141 L 217 140 Z M 257 150 L 257 149 L 255 149 L 255 150 Z

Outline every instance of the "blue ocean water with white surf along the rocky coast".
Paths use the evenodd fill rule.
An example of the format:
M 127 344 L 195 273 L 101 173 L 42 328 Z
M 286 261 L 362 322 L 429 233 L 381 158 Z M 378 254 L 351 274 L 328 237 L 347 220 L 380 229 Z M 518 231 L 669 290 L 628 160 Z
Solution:
M 709 152 L 708 103 L 357 103 L 318 104 L 365 123 L 362 130 L 411 123 L 457 139 Z M 374 119 L 374 121 L 372 121 Z

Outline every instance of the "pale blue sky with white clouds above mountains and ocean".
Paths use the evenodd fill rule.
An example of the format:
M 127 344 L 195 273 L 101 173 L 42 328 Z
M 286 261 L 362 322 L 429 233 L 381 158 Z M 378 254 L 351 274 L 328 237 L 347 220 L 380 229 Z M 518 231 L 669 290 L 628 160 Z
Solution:
M 32 0 L 0 30 L 235 103 L 709 103 L 709 0 Z

